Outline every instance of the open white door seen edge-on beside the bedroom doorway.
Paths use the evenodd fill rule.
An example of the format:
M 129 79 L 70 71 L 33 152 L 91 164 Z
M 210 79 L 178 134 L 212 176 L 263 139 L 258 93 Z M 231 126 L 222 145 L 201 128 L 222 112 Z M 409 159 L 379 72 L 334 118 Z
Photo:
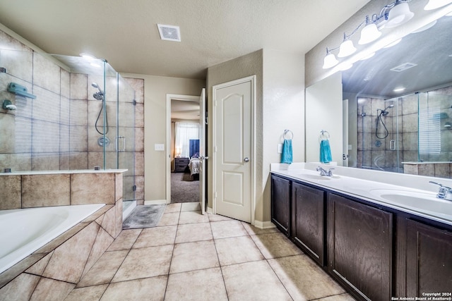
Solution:
M 199 125 L 201 126 L 201 137 L 199 139 L 199 205 L 201 214 L 206 211 L 206 89 L 203 88 L 199 97 Z

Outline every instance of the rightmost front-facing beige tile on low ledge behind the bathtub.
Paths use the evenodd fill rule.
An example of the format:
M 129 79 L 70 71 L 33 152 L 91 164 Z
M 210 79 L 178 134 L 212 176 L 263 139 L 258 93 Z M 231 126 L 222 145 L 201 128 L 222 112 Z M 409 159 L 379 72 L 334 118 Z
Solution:
M 71 205 L 114 204 L 114 173 L 73 173 Z

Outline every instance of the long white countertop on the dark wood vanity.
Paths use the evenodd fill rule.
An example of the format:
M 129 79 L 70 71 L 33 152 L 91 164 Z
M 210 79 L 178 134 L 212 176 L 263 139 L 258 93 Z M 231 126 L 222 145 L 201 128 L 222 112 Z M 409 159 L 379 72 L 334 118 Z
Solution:
M 333 176 L 320 176 L 317 166 L 335 168 Z M 437 198 L 439 186 L 429 183 L 452 187 L 451 179 L 311 163 L 271 164 L 270 171 L 452 226 L 452 201 Z

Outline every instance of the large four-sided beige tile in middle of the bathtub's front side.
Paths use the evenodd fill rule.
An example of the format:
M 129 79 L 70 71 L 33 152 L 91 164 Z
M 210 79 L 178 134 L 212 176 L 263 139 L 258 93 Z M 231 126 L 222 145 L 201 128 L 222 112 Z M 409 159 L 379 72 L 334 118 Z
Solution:
M 57 247 L 42 276 L 78 283 L 98 231 L 99 225 L 90 223 L 63 245 Z

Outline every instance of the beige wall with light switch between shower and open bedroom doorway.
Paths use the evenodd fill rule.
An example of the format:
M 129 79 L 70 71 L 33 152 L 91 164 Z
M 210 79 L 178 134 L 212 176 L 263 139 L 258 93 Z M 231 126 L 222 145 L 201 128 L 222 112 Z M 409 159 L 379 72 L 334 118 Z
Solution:
M 144 174 L 145 200 L 166 199 L 166 149 L 154 150 L 155 144 L 166 143 L 167 94 L 200 95 L 204 80 L 169 78 L 165 76 L 121 74 L 144 79 Z

